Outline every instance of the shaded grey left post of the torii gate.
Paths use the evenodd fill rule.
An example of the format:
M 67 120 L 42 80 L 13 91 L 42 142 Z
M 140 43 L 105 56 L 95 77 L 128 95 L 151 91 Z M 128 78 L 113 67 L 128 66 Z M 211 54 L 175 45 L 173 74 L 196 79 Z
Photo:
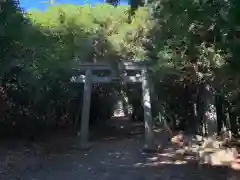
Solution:
M 86 79 L 84 83 L 84 93 L 83 93 L 83 106 L 81 115 L 81 131 L 80 131 L 80 146 L 82 149 L 88 147 L 88 136 L 89 136 L 89 113 L 91 104 L 91 92 L 92 92 L 92 70 L 86 70 Z

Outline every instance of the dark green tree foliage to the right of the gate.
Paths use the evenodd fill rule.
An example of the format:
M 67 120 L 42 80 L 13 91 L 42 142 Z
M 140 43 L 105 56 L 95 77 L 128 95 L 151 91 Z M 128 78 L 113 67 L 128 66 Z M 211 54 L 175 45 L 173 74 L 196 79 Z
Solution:
M 154 26 L 148 36 L 151 46 L 148 56 L 154 57 L 151 60 L 155 86 L 166 87 L 165 91 L 163 88 L 159 91 L 160 97 L 166 97 L 164 103 L 168 107 L 171 101 L 179 104 L 188 99 L 192 104 L 197 103 L 202 84 L 210 84 L 213 92 L 221 92 L 230 104 L 236 101 L 239 97 L 239 2 L 156 0 L 149 5 Z M 182 98 L 183 92 L 178 87 L 179 94 L 173 95 L 176 84 L 187 87 L 185 92 L 191 89 L 191 93 Z M 176 109 L 174 104 L 172 107 Z

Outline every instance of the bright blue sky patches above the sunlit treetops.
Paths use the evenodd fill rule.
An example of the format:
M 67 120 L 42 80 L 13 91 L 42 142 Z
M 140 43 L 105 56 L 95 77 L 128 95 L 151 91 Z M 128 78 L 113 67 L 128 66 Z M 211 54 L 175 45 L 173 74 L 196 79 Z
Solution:
M 44 11 L 47 8 L 48 0 L 19 0 L 20 6 L 25 10 L 28 11 L 30 9 L 38 9 Z M 83 4 L 99 4 L 104 3 L 104 0 L 56 0 L 56 4 L 73 4 L 73 5 L 83 5 Z M 120 4 L 127 4 L 127 0 L 121 0 Z

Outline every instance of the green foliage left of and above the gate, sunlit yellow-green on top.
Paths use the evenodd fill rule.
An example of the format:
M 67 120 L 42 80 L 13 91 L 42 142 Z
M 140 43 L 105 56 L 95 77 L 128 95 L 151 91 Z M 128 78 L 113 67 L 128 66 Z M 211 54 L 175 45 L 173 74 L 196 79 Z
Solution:
M 22 13 L 14 2 L 2 5 L 1 84 L 8 97 L 3 101 L 10 104 L 5 117 L 20 124 L 20 130 L 26 120 L 52 124 L 74 119 L 77 109 L 72 106 L 79 104 L 71 101 L 79 98 L 79 92 L 81 96 L 81 88 L 69 83 L 73 67 L 145 55 L 141 41 L 148 28 L 146 9 L 139 9 L 136 21 L 128 24 L 125 6 L 58 5 L 45 12 Z M 108 96 L 114 90 L 95 91 Z M 98 100 L 113 107 L 106 98 Z M 109 113 L 106 110 L 105 116 Z

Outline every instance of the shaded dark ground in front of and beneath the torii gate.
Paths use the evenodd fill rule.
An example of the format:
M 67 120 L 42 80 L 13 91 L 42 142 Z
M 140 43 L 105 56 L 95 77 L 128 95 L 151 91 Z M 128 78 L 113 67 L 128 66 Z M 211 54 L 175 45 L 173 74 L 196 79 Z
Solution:
M 163 135 L 157 140 L 165 141 Z M 226 167 L 199 165 L 194 157 L 180 161 L 171 145 L 144 154 L 143 136 L 92 140 L 89 151 L 72 148 L 76 138 L 55 135 L 35 143 L 0 144 L 1 180 L 238 180 Z

